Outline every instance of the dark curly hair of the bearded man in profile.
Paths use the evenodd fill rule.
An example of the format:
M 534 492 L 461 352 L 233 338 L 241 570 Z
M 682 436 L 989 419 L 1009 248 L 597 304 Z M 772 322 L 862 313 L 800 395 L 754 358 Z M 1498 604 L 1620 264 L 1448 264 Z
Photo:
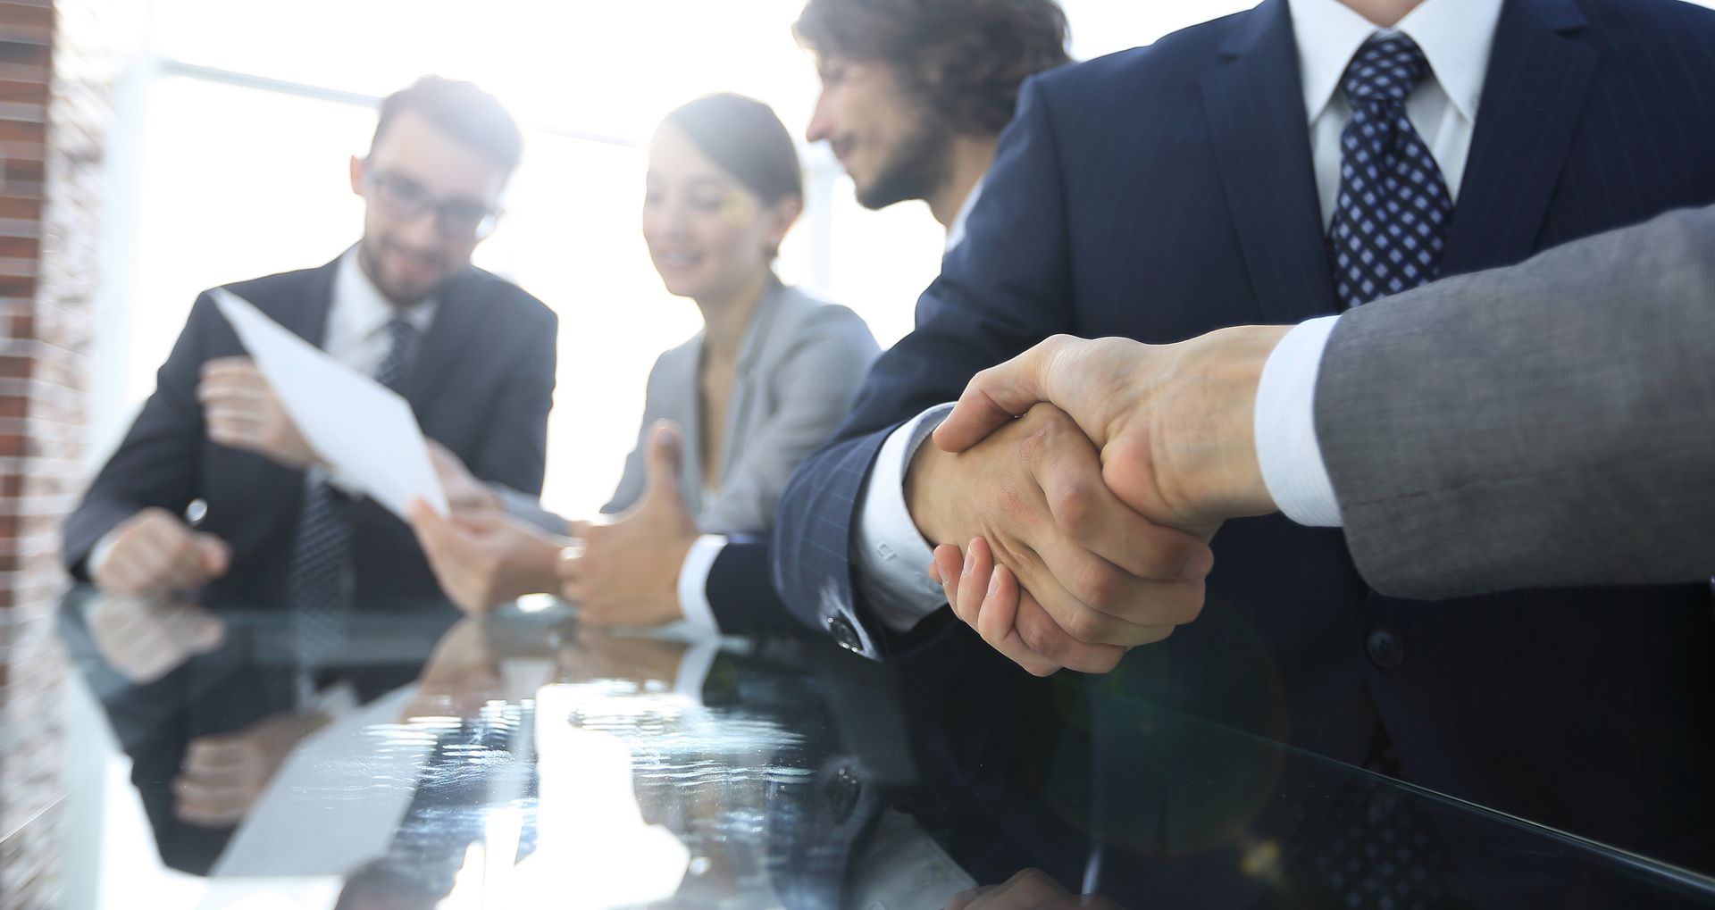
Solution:
M 955 134 L 998 134 L 1019 86 L 1068 63 L 1055 0 L 809 0 L 792 26 L 818 57 L 888 63 Z

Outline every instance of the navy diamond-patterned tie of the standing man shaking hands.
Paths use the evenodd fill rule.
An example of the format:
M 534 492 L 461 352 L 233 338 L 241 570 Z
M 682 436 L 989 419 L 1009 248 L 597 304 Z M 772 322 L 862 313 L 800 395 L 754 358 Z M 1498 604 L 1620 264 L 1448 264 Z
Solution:
M 1334 290 L 1345 307 L 1432 281 L 1441 271 L 1453 197 L 1405 98 L 1429 60 L 1405 34 L 1363 45 L 1341 87 L 1351 122 L 1339 134 L 1339 197 L 1329 226 Z

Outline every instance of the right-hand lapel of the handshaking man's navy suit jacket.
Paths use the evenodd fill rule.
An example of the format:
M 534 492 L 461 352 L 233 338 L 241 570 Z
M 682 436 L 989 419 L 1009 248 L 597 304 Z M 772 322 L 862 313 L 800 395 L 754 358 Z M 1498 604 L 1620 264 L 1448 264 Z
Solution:
M 1571 0 L 1509 0 L 1502 10 L 1442 274 L 1535 252 L 1600 57 L 1578 39 L 1583 27 Z

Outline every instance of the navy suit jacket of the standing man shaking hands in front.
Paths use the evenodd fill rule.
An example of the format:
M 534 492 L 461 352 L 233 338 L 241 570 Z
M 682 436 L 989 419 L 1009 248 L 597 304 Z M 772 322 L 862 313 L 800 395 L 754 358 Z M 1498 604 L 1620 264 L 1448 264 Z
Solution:
M 1708 10 L 1507 0 L 1442 272 L 1710 202 L 1712 96 Z M 1334 308 L 1285 0 L 1036 77 L 916 332 L 794 473 L 775 584 L 895 653 L 851 562 L 895 427 L 1055 332 L 1170 343 Z M 1715 867 L 1706 586 L 1423 603 L 1365 588 L 1338 531 L 1235 521 L 1214 548 L 1202 619 L 1122 663 L 1139 694 L 1348 763 L 1381 720 L 1422 785 Z

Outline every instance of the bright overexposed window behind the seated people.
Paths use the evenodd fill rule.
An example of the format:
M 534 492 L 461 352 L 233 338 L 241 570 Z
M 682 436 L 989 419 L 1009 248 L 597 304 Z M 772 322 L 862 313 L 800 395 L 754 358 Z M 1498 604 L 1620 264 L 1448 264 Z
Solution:
M 1250 0 L 1067 0 L 1074 57 L 1149 43 Z M 525 159 L 477 264 L 559 312 L 559 392 L 544 502 L 599 509 L 636 439 L 655 355 L 700 319 L 660 284 L 638 218 L 643 146 L 712 91 L 767 101 L 803 137 L 816 99 L 791 34 L 801 0 L 135 0 L 115 93 L 108 240 L 87 470 L 118 444 L 197 291 L 319 266 L 355 242 L 374 103 L 424 74 L 468 79 L 525 125 Z M 823 146 L 780 274 L 858 310 L 882 344 L 911 329 L 940 264 L 919 204 L 863 211 Z M 595 394 L 592 394 L 595 391 Z

